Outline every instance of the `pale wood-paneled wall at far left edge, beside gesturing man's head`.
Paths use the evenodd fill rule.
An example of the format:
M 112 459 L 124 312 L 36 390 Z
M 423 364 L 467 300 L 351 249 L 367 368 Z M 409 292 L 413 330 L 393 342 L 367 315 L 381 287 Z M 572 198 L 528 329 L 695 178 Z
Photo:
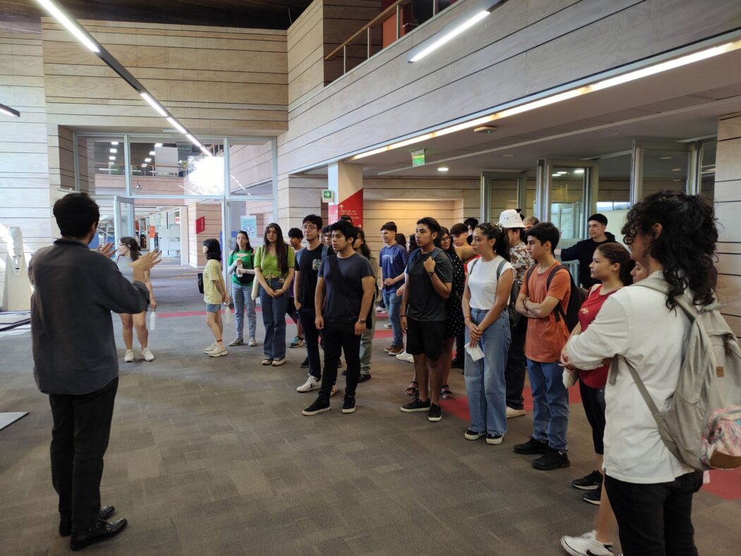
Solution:
M 0 102 L 21 112 L 20 118 L 0 115 L 2 305 L 5 257 L 10 239 L 8 228 L 21 228 L 27 258 L 37 249 L 49 245 L 53 236 L 44 65 L 38 36 L 0 34 Z

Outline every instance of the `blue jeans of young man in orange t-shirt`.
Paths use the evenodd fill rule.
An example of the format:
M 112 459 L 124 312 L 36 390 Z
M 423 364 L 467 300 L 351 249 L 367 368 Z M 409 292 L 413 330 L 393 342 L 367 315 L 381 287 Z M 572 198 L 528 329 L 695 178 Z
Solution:
M 558 451 L 566 451 L 568 390 L 563 368 L 557 361 L 540 363 L 528 359 L 528 377 L 533 390 L 533 437 Z

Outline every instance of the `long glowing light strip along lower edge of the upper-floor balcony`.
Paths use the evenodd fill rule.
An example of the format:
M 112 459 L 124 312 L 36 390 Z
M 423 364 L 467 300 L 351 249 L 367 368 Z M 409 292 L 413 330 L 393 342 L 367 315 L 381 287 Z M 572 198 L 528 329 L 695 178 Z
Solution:
M 717 47 L 706 48 L 705 50 L 700 50 L 699 52 L 687 54 L 685 56 L 679 56 L 679 58 L 669 60 L 668 62 L 660 62 L 650 67 L 644 67 L 640 70 L 629 71 L 628 73 L 622 74 L 622 76 L 613 77 L 611 79 L 604 79 L 602 81 L 593 83 L 591 85 L 583 85 L 581 87 L 574 87 L 574 89 L 565 90 L 562 93 L 555 93 L 551 96 L 545 96 L 541 99 L 536 99 L 531 102 L 525 102 L 519 106 L 514 106 L 511 108 L 507 108 L 505 110 L 500 110 L 499 112 L 495 112 L 493 114 L 490 114 L 489 116 L 482 116 L 480 118 L 469 120 L 468 122 L 462 122 L 460 124 L 452 125 L 450 128 L 442 128 L 439 130 L 424 133 L 416 137 L 411 137 L 410 139 L 404 139 L 403 141 L 391 143 L 391 145 L 385 145 L 383 147 L 375 148 L 373 150 L 368 150 L 365 153 L 359 153 L 359 154 L 356 154 L 355 156 L 351 156 L 350 160 L 364 159 L 367 156 L 373 156 L 375 154 L 385 153 L 388 150 L 407 147 L 408 145 L 414 145 L 415 143 L 424 142 L 424 141 L 427 141 L 428 139 L 433 139 L 434 137 L 447 135 L 448 133 L 455 133 L 456 131 L 465 130 L 469 128 L 475 128 L 487 122 L 494 122 L 494 120 L 497 120 L 497 119 L 506 118 L 508 116 L 514 116 L 516 114 L 520 114 L 523 112 L 529 112 L 530 110 L 536 110 L 537 108 L 541 108 L 541 107 L 548 106 L 548 105 L 554 105 L 557 102 L 562 102 L 568 99 L 574 99 L 577 96 L 582 96 L 587 93 L 593 93 L 594 91 L 606 89 L 608 87 L 614 87 L 615 85 L 622 85 L 623 83 L 631 82 L 636 79 L 642 79 L 643 77 L 648 77 L 656 73 L 662 73 L 664 71 L 673 70 L 674 68 L 677 68 L 677 67 L 682 67 L 687 64 L 692 64 L 694 62 L 700 62 L 701 60 L 705 60 L 713 56 L 720 56 L 720 54 L 725 54 L 733 50 L 739 50 L 739 49 L 741 49 L 741 39 L 737 41 L 721 44 L 720 46 L 717 46 Z M 414 58 L 416 59 L 417 56 L 419 55 L 415 55 Z M 413 61 L 413 59 L 411 61 Z M 616 136 L 616 135 L 617 135 L 616 132 L 608 132 L 608 133 L 600 134 L 600 136 Z

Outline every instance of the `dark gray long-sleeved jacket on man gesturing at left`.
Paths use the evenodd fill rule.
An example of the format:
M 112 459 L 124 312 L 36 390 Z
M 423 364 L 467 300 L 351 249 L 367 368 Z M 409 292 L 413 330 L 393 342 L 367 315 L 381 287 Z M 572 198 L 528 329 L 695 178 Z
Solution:
M 119 376 L 110 311 L 147 310 L 149 292 L 80 242 L 58 239 L 28 265 L 33 374 L 44 394 L 89 394 Z

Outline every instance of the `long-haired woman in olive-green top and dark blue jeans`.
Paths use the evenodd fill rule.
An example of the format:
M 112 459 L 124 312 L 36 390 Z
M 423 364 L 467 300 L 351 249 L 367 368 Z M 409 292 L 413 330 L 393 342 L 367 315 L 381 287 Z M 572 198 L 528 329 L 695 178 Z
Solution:
M 280 226 L 271 223 L 265 228 L 264 245 L 255 257 L 255 277 L 259 282 L 262 324 L 265 325 L 263 365 L 285 363 L 285 308 L 288 285 L 293 280 L 295 255 L 283 240 Z

